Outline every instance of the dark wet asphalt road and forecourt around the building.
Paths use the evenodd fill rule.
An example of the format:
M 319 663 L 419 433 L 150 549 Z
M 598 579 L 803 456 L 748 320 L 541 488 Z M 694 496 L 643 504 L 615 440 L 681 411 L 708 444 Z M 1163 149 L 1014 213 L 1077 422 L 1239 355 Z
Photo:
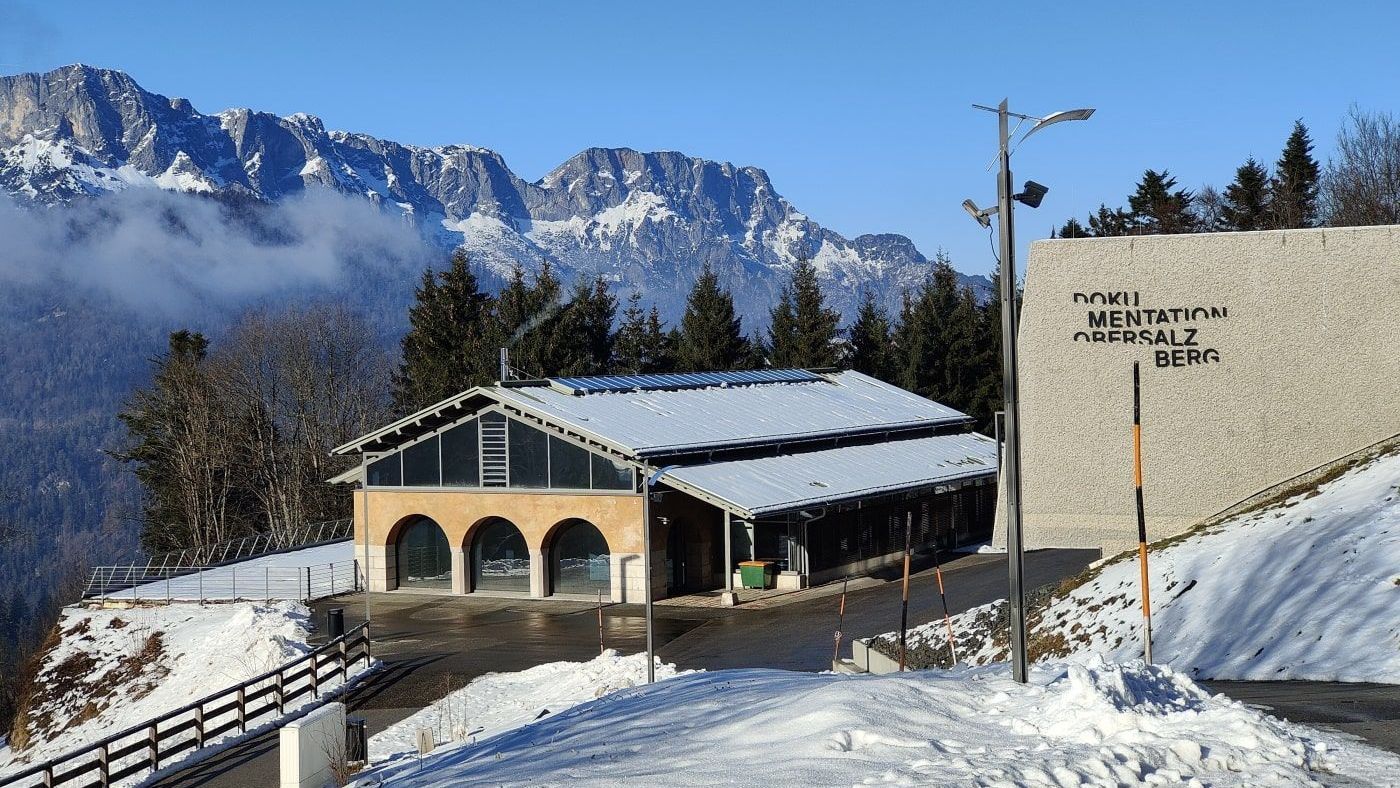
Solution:
M 1070 577 L 1095 557 L 1096 553 L 1084 550 L 1029 553 L 1026 586 Z M 848 638 L 899 627 L 900 584 L 888 579 L 847 595 Z M 960 557 L 944 565 L 944 581 L 955 613 L 1004 598 L 1005 557 Z M 911 578 L 910 600 L 911 624 L 942 614 L 931 570 Z M 365 718 L 371 735 L 483 673 L 560 659 L 582 661 L 598 654 L 598 613 L 588 603 L 378 593 L 371 595 L 370 605 L 375 656 L 385 669 L 344 700 L 353 715 Z M 833 593 L 767 609 L 658 606 L 657 652 L 682 668 L 827 669 L 837 605 L 839 596 Z M 364 620 L 363 596 L 316 603 L 316 619 L 323 620 L 329 607 L 343 607 L 347 626 Z M 603 638 L 609 648 L 643 651 L 643 607 L 605 607 Z M 843 652 L 848 654 L 848 647 Z M 1312 682 L 1208 684 L 1275 715 L 1329 725 L 1400 752 L 1400 687 Z M 157 784 L 245 788 L 276 782 L 277 738 L 272 733 Z

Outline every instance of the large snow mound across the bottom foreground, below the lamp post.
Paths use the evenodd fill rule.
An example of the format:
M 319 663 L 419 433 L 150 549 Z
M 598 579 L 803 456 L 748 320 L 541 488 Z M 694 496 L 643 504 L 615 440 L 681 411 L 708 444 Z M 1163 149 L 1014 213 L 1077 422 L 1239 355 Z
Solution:
M 416 757 L 371 768 L 356 785 L 1253 787 L 1394 774 L 1400 757 L 1211 697 L 1169 668 L 1098 662 L 1039 665 L 1029 684 L 1004 668 L 678 676 L 433 753 L 421 770 Z

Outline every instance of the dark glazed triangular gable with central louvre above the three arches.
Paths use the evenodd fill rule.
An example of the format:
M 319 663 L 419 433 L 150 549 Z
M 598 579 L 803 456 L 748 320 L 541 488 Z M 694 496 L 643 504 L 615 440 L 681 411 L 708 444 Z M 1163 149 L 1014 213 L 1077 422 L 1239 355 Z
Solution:
M 500 414 L 494 434 L 500 435 Z M 507 487 L 552 490 L 609 490 L 631 493 L 636 474 L 624 463 L 591 452 L 524 421 L 504 418 L 504 470 Z M 482 487 L 483 463 L 500 463 L 500 445 L 491 441 L 493 424 L 482 418 L 463 421 L 368 463 L 370 487 Z M 486 469 L 490 479 L 491 467 Z M 489 486 L 500 486 L 497 481 Z

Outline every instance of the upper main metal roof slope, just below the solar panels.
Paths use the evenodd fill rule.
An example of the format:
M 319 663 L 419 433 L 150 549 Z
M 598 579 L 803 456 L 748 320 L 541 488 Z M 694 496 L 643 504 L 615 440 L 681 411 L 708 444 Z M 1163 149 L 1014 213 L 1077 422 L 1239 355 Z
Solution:
M 491 396 L 636 458 L 962 424 L 969 417 L 860 372 L 809 382 L 566 393 L 496 386 Z

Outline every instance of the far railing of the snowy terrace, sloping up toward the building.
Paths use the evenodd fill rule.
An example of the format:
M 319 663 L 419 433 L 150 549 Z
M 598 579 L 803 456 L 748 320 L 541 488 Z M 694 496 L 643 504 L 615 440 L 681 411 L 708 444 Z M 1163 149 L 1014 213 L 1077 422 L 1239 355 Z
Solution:
M 176 550 L 154 556 L 144 563 L 133 561 L 122 565 L 94 567 L 88 584 L 83 589 L 83 599 L 106 596 L 115 591 L 207 571 L 213 567 L 234 564 L 259 556 L 342 542 L 350 539 L 353 535 L 354 528 L 351 521 L 336 519 L 287 530 L 259 533 L 244 539 L 232 539 L 217 544 Z

